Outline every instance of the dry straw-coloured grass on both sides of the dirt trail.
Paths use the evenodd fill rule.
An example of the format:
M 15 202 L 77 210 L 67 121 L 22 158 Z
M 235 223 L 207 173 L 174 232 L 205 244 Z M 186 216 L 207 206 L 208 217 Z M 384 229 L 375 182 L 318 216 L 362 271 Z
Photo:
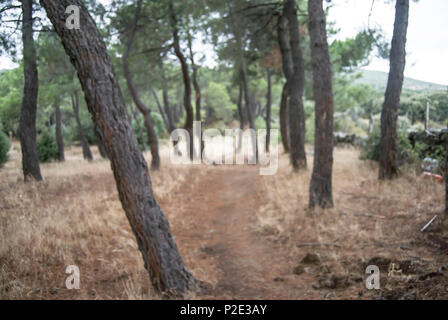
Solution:
M 65 163 L 42 165 L 44 182 L 24 184 L 20 148 L 14 143 L 10 161 L 0 171 L 0 299 L 159 299 L 151 292 L 109 162 L 94 151 L 97 160 L 88 163 L 80 148 L 72 147 Z M 167 147 L 161 156 L 162 170 L 151 174 L 156 197 L 188 268 L 215 285 L 222 280 L 217 267 L 220 256 L 204 258 L 201 246 L 207 244 L 211 231 L 202 231 L 203 221 L 197 220 L 211 200 L 201 183 L 215 169 L 171 166 Z M 264 239 L 281 243 L 288 259 L 297 263 L 306 253 L 318 254 L 321 265 L 305 268 L 317 282 L 328 274 L 362 275 L 362 266 L 373 257 L 410 259 L 419 272 L 387 278 L 384 294 L 412 284 L 418 298 L 447 297 L 445 277 L 443 281 L 435 278 L 436 285 L 431 282 L 434 279 L 418 281 L 420 275 L 448 263 L 447 228 L 442 219 L 424 234 L 419 231 L 443 211 L 443 185 L 411 172 L 393 182 L 379 182 L 375 164 L 360 161 L 356 150 L 337 149 L 335 209 L 309 211 L 310 173 L 292 174 L 288 157 L 281 155 L 278 173 L 260 178 L 257 189 L 263 203 L 255 228 Z M 199 193 L 190 195 L 192 190 Z M 198 206 L 202 211 L 191 214 Z M 296 247 L 314 242 L 340 247 Z M 400 245 L 410 250 L 399 249 Z M 65 289 L 65 268 L 72 264 L 81 270 L 81 290 Z M 283 269 L 289 268 L 285 264 Z M 312 283 L 306 281 L 311 288 Z M 323 296 L 358 298 L 362 285 L 325 291 Z M 363 294 L 373 297 L 365 290 Z

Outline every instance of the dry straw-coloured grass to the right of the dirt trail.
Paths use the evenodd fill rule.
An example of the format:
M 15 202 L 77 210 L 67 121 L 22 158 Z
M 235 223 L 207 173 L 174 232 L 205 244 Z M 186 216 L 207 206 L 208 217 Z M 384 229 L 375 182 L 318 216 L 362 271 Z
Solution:
M 263 177 L 262 192 L 269 200 L 258 212 L 261 232 L 289 246 L 291 259 L 296 261 L 307 253 L 316 253 L 322 261 L 320 269 L 305 269 L 315 275 L 316 280 L 328 278 L 328 273 L 362 275 L 365 263 L 374 257 L 385 257 L 397 263 L 410 259 L 419 265 L 422 273 L 447 265 L 443 184 L 424 180 L 412 169 L 395 181 L 380 182 L 377 164 L 360 161 L 357 150 L 339 148 L 334 157 L 335 209 L 315 211 L 307 209 L 311 168 L 293 174 L 288 157 L 281 157 L 278 174 Z M 312 158 L 308 160 L 312 164 Z M 439 214 L 439 220 L 432 229 L 421 233 L 420 228 L 435 214 Z M 429 240 L 431 237 L 440 241 L 435 244 Z M 310 243 L 322 245 L 296 246 Z M 406 284 L 415 280 L 405 274 L 402 277 Z M 431 288 L 417 290 L 417 296 L 447 298 L 448 286 L 445 285 L 446 281 L 437 292 L 429 295 Z M 352 290 L 331 292 L 328 297 L 356 298 L 363 286 L 360 283 Z M 387 292 L 383 292 L 383 297 Z

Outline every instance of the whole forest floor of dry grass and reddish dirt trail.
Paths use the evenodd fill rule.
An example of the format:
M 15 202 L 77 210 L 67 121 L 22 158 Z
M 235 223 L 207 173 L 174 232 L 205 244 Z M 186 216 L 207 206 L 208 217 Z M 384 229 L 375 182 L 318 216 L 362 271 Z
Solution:
M 88 163 L 70 147 L 65 163 L 42 165 L 43 182 L 24 184 L 13 144 L 0 170 L 0 299 L 160 299 L 109 162 L 94 151 Z M 151 173 L 154 192 L 187 267 L 209 284 L 187 298 L 448 298 L 442 184 L 412 170 L 379 182 L 376 164 L 337 148 L 335 208 L 310 211 L 311 169 L 292 173 L 287 155 L 277 174 L 260 176 L 250 165 L 175 166 L 168 152 Z M 80 290 L 65 288 L 73 264 Z M 366 289 L 368 265 L 380 268 L 379 290 Z

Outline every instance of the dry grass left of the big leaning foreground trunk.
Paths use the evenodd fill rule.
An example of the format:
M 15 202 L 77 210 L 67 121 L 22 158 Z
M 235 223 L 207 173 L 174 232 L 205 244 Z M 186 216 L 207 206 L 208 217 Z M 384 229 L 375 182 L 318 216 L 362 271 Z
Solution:
M 70 148 L 65 163 L 41 166 L 44 182 L 24 184 L 14 144 L 0 172 L 0 299 L 158 298 L 109 161 L 94 156 L 98 160 L 88 163 L 79 148 Z M 164 164 L 152 179 L 162 198 L 184 175 Z M 81 270 L 81 290 L 65 289 L 65 268 L 72 264 Z

